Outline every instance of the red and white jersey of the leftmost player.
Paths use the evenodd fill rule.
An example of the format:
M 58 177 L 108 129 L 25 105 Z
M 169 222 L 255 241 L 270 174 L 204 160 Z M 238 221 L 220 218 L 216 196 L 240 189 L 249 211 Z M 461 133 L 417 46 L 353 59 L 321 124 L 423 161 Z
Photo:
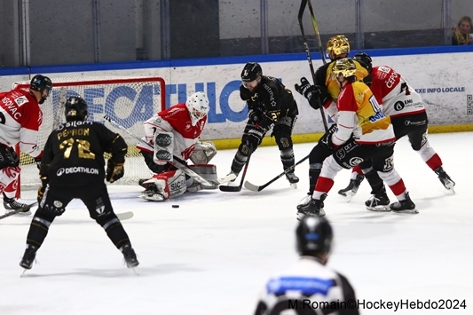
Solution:
M 37 135 L 42 122 L 43 112 L 29 91 L 0 93 L 0 144 L 20 145 L 21 152 L 34 158 L 41 156 Z

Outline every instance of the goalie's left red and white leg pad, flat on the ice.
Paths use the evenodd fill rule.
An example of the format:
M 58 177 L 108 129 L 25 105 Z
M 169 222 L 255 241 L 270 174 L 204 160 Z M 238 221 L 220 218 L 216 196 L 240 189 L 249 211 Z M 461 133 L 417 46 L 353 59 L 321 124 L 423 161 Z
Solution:
M 167 170 L 160 174 L 155 174 L 154 177 L 146 180 L 144 184 L 156 185 L 157 194 L 162 195 L 162 200 L 168 200 L 169 198 L 176 197 L 185 193 L 187 185 L 185 184 L 185 174 L 181 169 Z M 148 200 L 158 200 L 149 196 L 145 198 Z

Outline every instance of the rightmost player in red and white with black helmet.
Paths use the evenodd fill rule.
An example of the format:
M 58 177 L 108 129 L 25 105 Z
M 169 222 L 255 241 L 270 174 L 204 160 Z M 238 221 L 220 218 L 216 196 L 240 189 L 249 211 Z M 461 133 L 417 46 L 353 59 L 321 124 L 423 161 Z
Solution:
M 446 174 L 442 160 L 430 146 L 429 138 L 427 138 L 429 120 L 419 93 L 393 68 L 388 66 L 373 67 L 372 59 L 367 53 L 359 52 L 353 59 L 357 59 L 371 74 L 371 83 L 367 84 L 382 106 L 382 112 L 390 116 L 396 139 L 407 136 L 412 148 L 421 156 L 422 161 L 438 175 L 442 185 L 454 193 L 455 183 Z M 369 174 L 372 171 L 373 168 L 369 161 L 360 163 L 359 167 L 353 169 L 350 184 L 339 193 L 350 199 L 357 192 L 359 184 L 364 178 L 363 173 Z M 387 205 L 389 201 L 386 199 L 386 195 L 374 194 L 373 198 L 367 201 L 367 206 L 375 208 Z

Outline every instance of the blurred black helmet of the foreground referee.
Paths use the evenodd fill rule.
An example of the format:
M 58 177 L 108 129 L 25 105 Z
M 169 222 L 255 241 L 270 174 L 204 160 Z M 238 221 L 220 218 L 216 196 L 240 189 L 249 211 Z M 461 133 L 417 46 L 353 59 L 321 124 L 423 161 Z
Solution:
M 304 217 L 296 228 L 296 246 L 300 255 L 328 253 L 334 233 L 324 217 Z

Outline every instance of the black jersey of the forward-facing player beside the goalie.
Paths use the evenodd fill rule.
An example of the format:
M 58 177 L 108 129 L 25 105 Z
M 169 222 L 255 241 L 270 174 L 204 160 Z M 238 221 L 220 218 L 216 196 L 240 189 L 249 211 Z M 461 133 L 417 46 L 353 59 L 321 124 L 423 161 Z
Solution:
M 246 91 L 241 91 L 242 89 Z M 242 84 L 240 94 L 251 94 Z M 256 110 L 272 122 L 299 114 L 292 92 L 275 77 L 262 75 L 256 92 L 248 99 L 248 109 Z

